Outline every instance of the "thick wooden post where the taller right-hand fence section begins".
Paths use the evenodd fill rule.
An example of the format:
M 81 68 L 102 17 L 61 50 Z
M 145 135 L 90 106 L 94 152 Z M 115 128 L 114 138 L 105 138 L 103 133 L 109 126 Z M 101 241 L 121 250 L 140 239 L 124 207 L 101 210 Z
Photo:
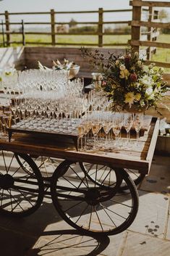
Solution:
M 138 0 L 141 1 L 142 0 Z M 133 1 L 132 1 L 133 2 Z M 141 19 L 141 11 L 142 11 L 142 7 L 132 7 L 132 22 L 133 21 L 139 21 Z M 140 41 L 140 25 L 139 26 L 133 26 L 131 28 L 131 40 L 137 40 Z M 132 46 L 134 51 L 140 51 L 140 46 Z

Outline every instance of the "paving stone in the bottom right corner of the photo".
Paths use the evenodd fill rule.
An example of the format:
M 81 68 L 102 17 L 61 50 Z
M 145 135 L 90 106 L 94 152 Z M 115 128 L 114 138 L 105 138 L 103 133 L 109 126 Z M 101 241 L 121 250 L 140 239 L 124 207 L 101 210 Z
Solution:
M 129 232 L 121 256 L 168 256 L 170 242 Z

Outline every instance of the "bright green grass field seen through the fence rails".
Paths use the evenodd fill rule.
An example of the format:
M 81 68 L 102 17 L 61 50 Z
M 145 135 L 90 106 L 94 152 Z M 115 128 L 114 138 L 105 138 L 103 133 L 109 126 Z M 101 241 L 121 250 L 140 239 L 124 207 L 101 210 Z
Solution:
M 121 36 L 103 36 L 103 44 L 126 44 L 130 39 L 130 35 L 121 35 Z M 14 43 L 11 46 L 22 45 L 22 36 L 21 35 L 12 35 L 11 41 L 20 42 L 20 44 Z M 51 43 L 51 36 L 49 35 L 26 35 L 25 41 L 27 46 L 42 46 L 42 42 Z M 157 38 L 158 42 L 168 43 L 170 41 L 170 35 L 161 34 Z M 2 36 L 0 36 L 0 43 L 2 42 Z M 29 42 L 30 44 L 27 44 Z M 36 42 L 37 44 L 31 44 L 31 42 Z M 56 36 L 56 43 L 60 44 L 98 44 L 98 36 Z M 2 46 L 2 45 L 1 45 Z M 43 46 L 46 46 L 43 44 Z M 48 44 L 47 44 L 48 46 Z M 66 47 L 67 47 L 66 46 Z M 76 46 L 78 47 L 78 46 Z M 122 46 L 113 46 L 118 48 Z M 111 48 L 111 46 L 109 46 Z M 169 62 L 170 63 L 170 49 L 157 48 L 156 54 L 153 54 L 153 61 L 158 62 Z

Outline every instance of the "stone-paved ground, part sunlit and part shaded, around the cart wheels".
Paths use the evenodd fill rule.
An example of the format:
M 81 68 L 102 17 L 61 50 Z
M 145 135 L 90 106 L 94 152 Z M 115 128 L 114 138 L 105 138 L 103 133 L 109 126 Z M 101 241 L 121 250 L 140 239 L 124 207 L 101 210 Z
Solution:
M 0 216 L 1 256 L 168 256 L 170 255 L 170 157 L 153 157 L 150 175 L 140 185 L 140 208 L 122 234 L 81 236 L 57 214 L 51 199 L 33 215 Z

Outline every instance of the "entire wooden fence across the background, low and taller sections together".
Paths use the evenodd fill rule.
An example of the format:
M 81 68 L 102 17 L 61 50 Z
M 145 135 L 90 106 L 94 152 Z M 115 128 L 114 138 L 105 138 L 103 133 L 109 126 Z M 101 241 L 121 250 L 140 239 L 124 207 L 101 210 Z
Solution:
M 160 22 L 158 20 L 158 10 L 155 9 L 155 7 L 170 7 L 170 2 L 167 1 L 143 1 L 143 0 L 132 0 L 129 1 L 129 5 L 132 7 L 132 9 L 112 9 L 112 10 L 103 10 L 102 8 L 99 8 L 96 11 L 82 11 L 82 12 L 55 12 L 54 9 L 51 9 L 51 12 L 4 12 L 0 13 L 0 17 L 4 17 L 4 21 L 2 21 L 2 36 L 4 40 L 5 46 L 10 46 L 14 43 L 20 43 L 22 45 L 29 45 L 29 44 L 42 44 L 42 45 L 62 45 L 62 46 L 127 46 L 127 44 L 130 44 L 133 46 L 133 48 L 137 51 L 140 51 L 140 49 L 144 49 L 147 53 L 147 60 L 146 64 L 150 64 L 151 55 L 156 51 L 156 48 L 160 47 L 163 49 L 170 49 L 169 42 L 160 43 L 156 41 L 156 38 L 159 34 L 159 30 L 161 28 L 170 28 L 170 22 Z M 122 20 L 122 21 L 104 21 L 104 15 L 106 13 L 115 13 L 115 12 L 132 12 L 132 21 L 129 20 Z M 148 20 L 142 20 L 143 12 L 148 12 Z M 97 30 L 96 32 L 56 32 L 56 26 L 59 25 L 69 25 L 70 22 L 56 22 L 56 16 L 58 15 L 83 15 L 83 14 L 97 14 L 98 15 L 98 21 L 96 22 L 76 22 L 77 25 L 95 25 Z M 50 22 L 24 22 L 22 20 L 21 22 L 11 22 L 12 17 L 20 15 L 49 15 Z M 124 35 L 124 33 L 116 31 L 108 33 L 104 30 L 105 25 L 129 25 L 131 27 L 131 39 L 128 42 L 124 43 L 115 43 L 115 44 L 104 44 L 103 37 L 104 36 L 113 36 L 113 35 Z M 12 31 L 12 25 L 20 25 L 20 32 Z M 25 28 L 27 25 L 49 25 L 50 32 L 37 32 L 37 31 L 26 31 Z M 145 32 L 141 30 L 141 28 L 145 28 Z M 20 34 L 22 35 L 22 41 L 16 42 L 11 40 L 11 36 L 14 34 Z M 27 41 L 25 40 L 25 36 L 27 35 L 48 35 L 51 37 L 50 42 L 33 42 L 33 41 Z M 57 42 L 57 36 L 64 36 L 64 35 L 80 35 L 80 36 L 98 36 L 98 43 L 97 44 L 85 44 L 85 43 L 59 43 Z M 83 39 L 82 39 L 83 40 Z M 161 67 L 170 67 L 170 63 L 167 62 L 156 62 L 156 65 Z

